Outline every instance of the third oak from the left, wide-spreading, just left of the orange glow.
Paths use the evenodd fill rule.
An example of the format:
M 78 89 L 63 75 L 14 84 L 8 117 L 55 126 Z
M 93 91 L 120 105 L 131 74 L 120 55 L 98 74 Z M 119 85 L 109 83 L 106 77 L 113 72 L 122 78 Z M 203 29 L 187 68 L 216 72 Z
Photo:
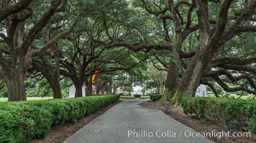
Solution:
M 85 19 L 81 20 L 83 24 L 77 26 L 78 32 L 68 36 L 63 41 L 63 45 L 67 48 L 60 55 L 61 59 L 63 59 L 60 61 L 60 74 L 73 81 L 76 87 L 75 97 L 82 96 L 83 84 L 86 85 L 86 94 L 92 94 L 91 88 L 93 83 L 91 77 L 93 74 L 99 76 L 119 70 L 129 71 L 147 59 L 144 56 L 140 56 L 137 59 L 131 50 L 124 49 L 119 45 L 112 46 L 116 49 L 110 49 L 105 46 L 104 41 L 109 40 L 108 36 L 106 36 L 108 31 L 105 30 L 106 21 L 109 18 L 106 16 L 108 14 L 104 13 L 104 11 L 102 12 L 103 14 L 99 12 L 101 4 L 96 4 L 91 5 L 88 2 L 86 8 L 88 14 L 86 14 Z M 109 5 L 109 3 L 106 3 L 106 5 Z M 122 3 L 117 5 L 122 6 Z M 91 10 L 94 8 L 99 9 L 99 11 Z M 111 9 L 111 11 L 114 11 L 114 9 Z M 118 27 L 115 31 L 116 34 L 120 34 L 123 28 Z M 130 34 L 130 31 L 128 34 Z M 122 36 L 125 37 L 127 34 L 123 33 Z

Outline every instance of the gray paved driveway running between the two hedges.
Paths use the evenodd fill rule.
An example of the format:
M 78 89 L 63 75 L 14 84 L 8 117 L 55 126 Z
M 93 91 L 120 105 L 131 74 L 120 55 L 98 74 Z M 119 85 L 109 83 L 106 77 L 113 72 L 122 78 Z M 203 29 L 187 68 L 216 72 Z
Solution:
M 164 112 L 139 105 L 147 100 L 122 99 L 65 143 L 211 142 Z

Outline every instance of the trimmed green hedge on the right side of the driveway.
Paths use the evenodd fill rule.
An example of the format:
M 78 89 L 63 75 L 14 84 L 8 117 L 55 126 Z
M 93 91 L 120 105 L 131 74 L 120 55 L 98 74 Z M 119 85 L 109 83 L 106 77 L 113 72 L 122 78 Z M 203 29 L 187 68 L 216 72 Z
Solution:
M 182 107 L 185 114 L 196 114 L 200 119 L 229 129 L 247 127 L 256 134 L 256 102 L 253 100 L 189 97 L 183 99 Z

